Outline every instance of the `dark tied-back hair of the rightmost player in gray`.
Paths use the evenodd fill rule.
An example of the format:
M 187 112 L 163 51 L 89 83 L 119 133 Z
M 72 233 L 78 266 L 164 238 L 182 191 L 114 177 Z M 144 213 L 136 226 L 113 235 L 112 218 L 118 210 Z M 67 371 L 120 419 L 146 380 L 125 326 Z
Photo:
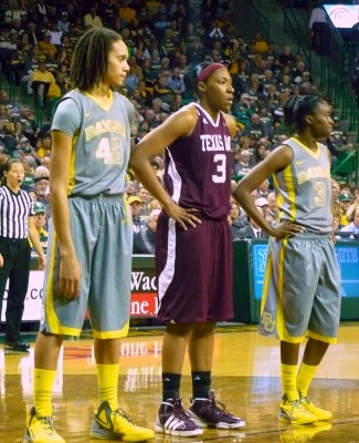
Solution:
M 318 95 L 291 95 L 283 106 L 284 123 L 291 134 L 303 131 L 306 115 L 312 115 L 319 103 L 325 101 Z

